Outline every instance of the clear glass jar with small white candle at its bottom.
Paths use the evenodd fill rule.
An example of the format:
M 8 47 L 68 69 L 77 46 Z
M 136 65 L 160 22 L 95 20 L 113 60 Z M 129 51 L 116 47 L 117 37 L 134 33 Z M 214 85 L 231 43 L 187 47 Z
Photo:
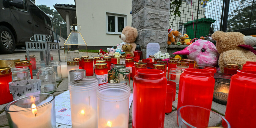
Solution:
M 53 66 L 37 67 L 36 78 L 42 81 L 41 93 L 55 92 L 57 85 L 56 85 L 56 73 L 53 69 Z

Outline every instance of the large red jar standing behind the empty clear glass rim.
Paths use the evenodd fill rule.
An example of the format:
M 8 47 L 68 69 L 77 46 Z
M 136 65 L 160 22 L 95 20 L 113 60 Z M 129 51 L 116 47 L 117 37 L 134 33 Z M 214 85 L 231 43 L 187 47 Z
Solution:
M 211 110 L 214 84 L 215 80 L 211 76 L 210 71 L 203 69 L 185 69 L 184 73 L 180 76 L 177 109 L 184 105 L 195 105 Z M 195 111 L 195 114 L 196 113 Z M 209 119 L 205 119 L 202 122 L 208 122 L 208 120 Z M 204 127 L 207 126 L 208 124 Z

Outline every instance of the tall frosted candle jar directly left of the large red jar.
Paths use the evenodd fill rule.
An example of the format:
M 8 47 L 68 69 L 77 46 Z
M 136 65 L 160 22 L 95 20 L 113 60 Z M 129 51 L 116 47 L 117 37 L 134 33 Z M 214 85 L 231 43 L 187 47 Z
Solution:
M 97 87 L 98 128 L 128 128 L 130 90 L 120 83 Z

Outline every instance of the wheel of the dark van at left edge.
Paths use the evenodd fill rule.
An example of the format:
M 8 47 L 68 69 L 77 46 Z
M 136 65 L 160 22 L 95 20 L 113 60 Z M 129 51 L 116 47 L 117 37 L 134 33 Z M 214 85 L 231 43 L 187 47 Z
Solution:
M 12 31 L 5 26 L 0 26 L 0 53 L 11 54 L 14 52 L 15 46 L 16 42 Z

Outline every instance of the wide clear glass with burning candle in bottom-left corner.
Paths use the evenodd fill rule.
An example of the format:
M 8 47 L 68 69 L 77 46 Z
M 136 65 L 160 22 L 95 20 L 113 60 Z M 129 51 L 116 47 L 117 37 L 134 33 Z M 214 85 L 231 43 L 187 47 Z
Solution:
M 11 128 L 55 128 L 55 96 L 37 94 L 14 100 L 5 107 Z

